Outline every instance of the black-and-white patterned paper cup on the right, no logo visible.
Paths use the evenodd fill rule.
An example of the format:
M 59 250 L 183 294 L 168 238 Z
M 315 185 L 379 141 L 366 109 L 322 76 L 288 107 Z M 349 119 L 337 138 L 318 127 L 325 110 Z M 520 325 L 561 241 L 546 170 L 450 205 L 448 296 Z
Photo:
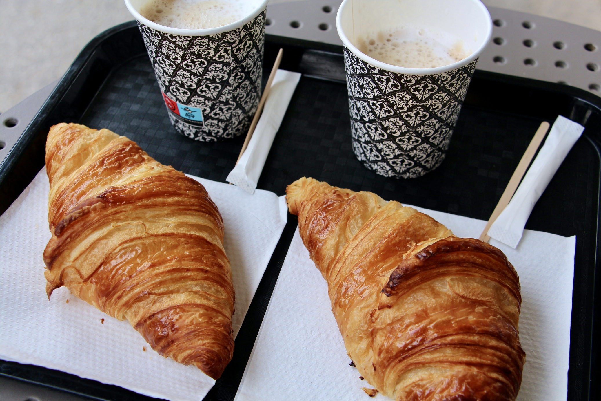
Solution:
M 404 23 L 436 27 L 471 46 L 469 57 L 433 68 L 385 64 L 356 38 Z M 440 166 L 448 150 L 478 57 L 492 33 L 479 0 L 344 0 L 338 8 L 344 44 L 352 146 L 374 172 L 416 178 Z

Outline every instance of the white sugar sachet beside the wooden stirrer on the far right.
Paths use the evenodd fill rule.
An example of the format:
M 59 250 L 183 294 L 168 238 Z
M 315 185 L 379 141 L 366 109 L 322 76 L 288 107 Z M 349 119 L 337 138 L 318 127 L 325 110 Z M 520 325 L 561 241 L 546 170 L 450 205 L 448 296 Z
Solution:
M 522 238 L 524 226 L 538 198 L 572 149 L 584 126 L 563 116 L 558 116 L 538 155 L 517 187 L 511 201 L 492 223 L 488 235 L 516 248 Z

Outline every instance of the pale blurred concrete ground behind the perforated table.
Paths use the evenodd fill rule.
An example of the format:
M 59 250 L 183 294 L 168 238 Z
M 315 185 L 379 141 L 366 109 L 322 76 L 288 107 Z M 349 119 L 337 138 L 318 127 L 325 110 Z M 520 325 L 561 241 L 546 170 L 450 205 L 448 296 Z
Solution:
M 601 30 L 601 0 L 484 4 Z M 60 78 L 94 36 L 131 19 L 123 0 L 0 0 L 0 112 Z

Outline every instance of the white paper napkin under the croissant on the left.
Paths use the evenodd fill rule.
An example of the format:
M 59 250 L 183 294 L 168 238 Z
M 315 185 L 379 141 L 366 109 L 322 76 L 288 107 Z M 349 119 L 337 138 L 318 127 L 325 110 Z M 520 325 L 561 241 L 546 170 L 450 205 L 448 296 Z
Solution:
M 192 178 L 207 188 L 224 219 L 237 334 L 284 229 L 284 197 L 263 190 L 250 195 L 233 185 Z M 215 381 L 197 367 L 154 352 L 127 321 L 109 317 L 64 287 L 47 299 L 42 252 L 50 239 L 48 190 L 42 169 L 0 216 L 0 359 L 62 370 L 161 399 L 203 399 Z

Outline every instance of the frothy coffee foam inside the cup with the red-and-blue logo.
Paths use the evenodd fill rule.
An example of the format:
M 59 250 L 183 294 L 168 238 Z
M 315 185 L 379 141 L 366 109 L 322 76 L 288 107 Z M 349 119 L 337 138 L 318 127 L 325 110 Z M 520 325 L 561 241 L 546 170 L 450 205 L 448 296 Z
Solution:
M 150 0 L 140 14 L 159 25 L 201 30 L 236 22 L 256 7 L 257 2 L 249 0 Z

